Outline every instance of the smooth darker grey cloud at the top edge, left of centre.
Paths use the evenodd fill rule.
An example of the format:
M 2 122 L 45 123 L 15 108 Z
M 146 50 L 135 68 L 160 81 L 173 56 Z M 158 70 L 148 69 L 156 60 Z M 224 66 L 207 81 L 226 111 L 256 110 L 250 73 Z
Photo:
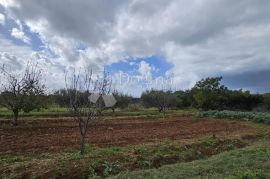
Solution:
M 9 7 L 9 12 L 24 21 L 45 19 L 48 24 L 44 28 L 56 35 L 96 44 L 108 38 L 115 23 L 115 15 L 125 2 L 26 0 L 16 1 L 16 6 Z

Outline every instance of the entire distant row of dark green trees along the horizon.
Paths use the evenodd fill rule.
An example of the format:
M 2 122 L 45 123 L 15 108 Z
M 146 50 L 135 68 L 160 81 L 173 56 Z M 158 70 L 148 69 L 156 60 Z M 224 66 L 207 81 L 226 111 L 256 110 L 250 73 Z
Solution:
M 117 100 L 112 108 L 124 109 L 136 104 L 145 108 L 156 108 L 160 112 L 166 109 L 197 108 L 200 110 L 239 110 L 239 111 L 267 111 L 270 110 L 270 93 L 252 94 L 249 91 L 232 90 L 221 84 L 222 77 L 205 78 L 198 81 L 189 90 L 162 91 L 147 90 L 142 93 L 140 98 L 120 92 L 113 92 Z M 83 104 L 88 104 L 88 94 L 81 92 L 78 95 Z M 0 94 L 0 105 L 7 106 L 5 98 L 10 95 L 6 91 Z M 31 103 L 24 102 L 22 109 L 25 112 L 41 107 L 69 107 L 70 97 L 68 89 L 59 89 L 52 94 L 39 93 L 31 99 Z M 35 99 L 35 100 L 34 100 Z

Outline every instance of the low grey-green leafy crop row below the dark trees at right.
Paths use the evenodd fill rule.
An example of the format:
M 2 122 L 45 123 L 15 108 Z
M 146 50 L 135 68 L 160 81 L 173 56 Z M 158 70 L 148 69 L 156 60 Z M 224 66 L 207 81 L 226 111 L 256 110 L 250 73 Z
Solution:
M 239 111 L 201 111 L 197 117 L 227 118 L 234 120 L 247 120 L 258 123 L 270 124 L 270 113 L 266 112 L 239 112 Z

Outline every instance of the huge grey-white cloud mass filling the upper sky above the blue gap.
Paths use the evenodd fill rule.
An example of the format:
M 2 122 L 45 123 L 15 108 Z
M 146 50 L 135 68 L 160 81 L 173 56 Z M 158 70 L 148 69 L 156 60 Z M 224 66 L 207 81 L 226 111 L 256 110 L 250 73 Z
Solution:
M 179 87 L 202 77 L 269 69 L 270 1 L 4 1 L 64 66 L 95 69 L 164 56 Z M 78 50 L 77 44 L 85 49 Z M 140 67 L 141 74 L 149 66 Z M 148 72 L 147 72 L 148 71 Z

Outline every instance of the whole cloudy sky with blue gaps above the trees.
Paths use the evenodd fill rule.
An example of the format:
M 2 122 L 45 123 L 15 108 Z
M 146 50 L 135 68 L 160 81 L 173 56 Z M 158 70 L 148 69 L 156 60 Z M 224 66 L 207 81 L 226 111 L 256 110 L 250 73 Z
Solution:
M 0 0 L 0 63 L 17 72 L 37 61 L 50 89 L 65 70 L 105 66 L 136 96 L 208 76 L 266 92 L 269 42 L 269 0 Z

